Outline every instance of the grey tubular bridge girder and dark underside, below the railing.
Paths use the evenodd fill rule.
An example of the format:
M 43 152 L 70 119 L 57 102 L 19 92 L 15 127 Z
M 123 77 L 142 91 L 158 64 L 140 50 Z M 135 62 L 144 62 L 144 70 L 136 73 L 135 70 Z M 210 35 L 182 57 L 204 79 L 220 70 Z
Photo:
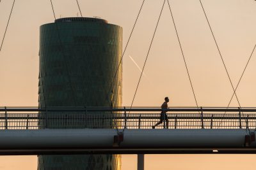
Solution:
M 254 129 L 251 130 L 254 132 Z M 256 153 L 246 129 L 38 129 L 0 131 L 0 155 Z

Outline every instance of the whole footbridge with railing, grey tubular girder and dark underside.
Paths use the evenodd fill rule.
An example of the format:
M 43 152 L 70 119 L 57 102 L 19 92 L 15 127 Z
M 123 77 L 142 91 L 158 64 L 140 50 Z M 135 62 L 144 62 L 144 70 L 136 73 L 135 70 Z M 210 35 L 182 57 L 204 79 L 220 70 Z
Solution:
M 256 153 L 256 108 L 0 108 L 0 154 Z

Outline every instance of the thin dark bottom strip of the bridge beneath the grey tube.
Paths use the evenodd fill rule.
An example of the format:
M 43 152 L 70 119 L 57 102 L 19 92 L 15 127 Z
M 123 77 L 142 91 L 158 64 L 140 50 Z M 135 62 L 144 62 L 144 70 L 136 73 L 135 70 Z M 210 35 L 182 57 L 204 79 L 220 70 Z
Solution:
M 218 152 L 215 152 L 218 151 Z M 44 148 L 6 149 L 0 155 L 78 155 L 78 154 L 255 154 L 255 148 Z

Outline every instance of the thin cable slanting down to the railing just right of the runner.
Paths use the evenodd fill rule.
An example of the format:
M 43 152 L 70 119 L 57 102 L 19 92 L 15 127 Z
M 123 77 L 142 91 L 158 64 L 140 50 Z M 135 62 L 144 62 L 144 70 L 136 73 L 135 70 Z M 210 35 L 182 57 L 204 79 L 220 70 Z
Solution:
M 186 59 L 185 59 L 185 57 L 184 57 L 184 52 L 183 52 L 183 49 L 182 49 L 182 46 L 181 46 L 181 43 L 180 43 L 179 34 L 178 34 L 177 27 L 176 27 L 176 24 L 175 24 L 175 21 L 174 21 L 174 18 L 173 18 L 173 14 L 172 14 L 172 8 L 171 8 L 171 6 L 170 6 L 169 0 L 167 0 L 167 2 L 168 2 L 169 9 L 170 9 L 170 13 L 171 13 L 171 15 L 172 15 L 173 25 L 174 25 L 175 32 L 176 32 L 176 35 L 177 35 L 177 38 L 178 38 L 178 41 L 179 41 L 180 50 L 181 50 L 181 53 L 182 53 L 182 57 L 183 57 L 183 60 L 184 60 L 184 64 L 185 64 L 185 66 L 186 66 L 186 70 L 187 70 L 187 73 L 188 73 L 188 78 L 189 78 L 189 82 L 190 82 L 190 85 L 191 85 L 191 89 L 192 89 L 192 92 L 193 92 L 193 96 L 194 96 L 194 99 L 195 99 L 195 102 L 196 102 L 196 107 L 198 108 L 198 103 L 197 103 L 197 100 L 196 100 L 195 90 L 194 90 L 194 88 L 193 88 L 193 84 L 192 84 L 192 81 L 191 81 L 191 78 L 190 78 L 190 75 L 189 75 L 189 70 L 188 70 L 188 66 L 187 66 L 187 63 L 186 63 Z

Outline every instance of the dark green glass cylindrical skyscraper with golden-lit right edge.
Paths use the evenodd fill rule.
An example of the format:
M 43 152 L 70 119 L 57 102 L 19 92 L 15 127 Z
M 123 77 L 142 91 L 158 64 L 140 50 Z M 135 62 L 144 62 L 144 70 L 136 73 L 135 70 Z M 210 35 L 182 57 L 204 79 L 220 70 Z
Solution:
M 111 86 L 122 57 L 122 27 L 99 18 L 60 18 L 40 27 L 39 56 L 40 107 L 122 105 L 122 64 Z M 40 170 L 120 166 L 120 155 L 38 156 Z

